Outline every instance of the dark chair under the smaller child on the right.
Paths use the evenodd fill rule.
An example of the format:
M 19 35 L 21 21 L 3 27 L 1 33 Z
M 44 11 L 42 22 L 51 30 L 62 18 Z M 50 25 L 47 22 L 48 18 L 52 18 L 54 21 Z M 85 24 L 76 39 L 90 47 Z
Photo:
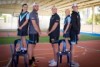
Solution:
M 63 51 L 66 48 L 66 44 L 63 44 L 63 48 L 62 50 L 60 50 L 60 45 L 61 43 L 66 43 L 64 39 L 58 40 L 56 42 L 54 42 L 53 44 L 57 43 L 58 44 L 58 52 L 57 52 L 57 67 L 59 66 L 59 62 L 62 63 L 62 56 L 66 55 L 67 57 L 67 63 L 69 65 L 69 67 L 71 67 L 71 61 L 72 61 L 72 45 L 71 42 L 69 40 L 70 43 L 70 50 L 69 51 Z

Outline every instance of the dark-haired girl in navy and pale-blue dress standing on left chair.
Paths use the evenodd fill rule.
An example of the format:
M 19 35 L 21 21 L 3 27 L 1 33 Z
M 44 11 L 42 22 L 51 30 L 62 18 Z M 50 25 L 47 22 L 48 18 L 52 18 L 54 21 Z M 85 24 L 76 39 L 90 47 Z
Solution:
M 25 36 L 28 35 L 28 22 L 29 22 L 29 12 L 27 10 L 28 10 L 28 5 L 23 4 L 18 20 L 18 36 L 21 37 L 23 46 L 21 47 L 21 52 L 23 53 L 27 53 L 27 44 L 25 38 Z

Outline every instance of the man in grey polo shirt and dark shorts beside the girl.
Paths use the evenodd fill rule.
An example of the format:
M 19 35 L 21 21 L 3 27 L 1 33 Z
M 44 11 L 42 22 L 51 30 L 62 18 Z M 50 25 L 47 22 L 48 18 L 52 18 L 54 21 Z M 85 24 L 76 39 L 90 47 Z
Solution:
M 38 10 L 39 5 L 33 3 L 33 10 L 30 13 L 30 22 L 29 22 L 29 45 L 28 45 L 28 57 L 29 57 L 29 66 L 35 65 L 34 49 L 36 43 L 39 42 L 39 35 L 41 33 L 39 27 L 39 18 Z

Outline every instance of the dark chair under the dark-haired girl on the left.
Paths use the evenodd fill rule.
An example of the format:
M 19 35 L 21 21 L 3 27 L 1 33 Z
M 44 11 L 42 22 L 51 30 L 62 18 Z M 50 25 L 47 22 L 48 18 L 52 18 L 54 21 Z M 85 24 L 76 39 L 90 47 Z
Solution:
M 27 43 L 27 46 L 28 46 L 28 40 L 26 40 L 26 43 Z M 25 67 L 28 67 L 28 64 L 27 64 L 27 53 L 22 53 L 21 51 L 17 52 L 16 51 L 16 45 L 17 44 L 20 44 L 20 46 L 22 45 L 20 39 L 17 39 L 17 40 L 14 41 L 14 46 L 10 45 L 11 52 L 12 52 L 12 63 L 11 63 L 11 66 L 12 67 L 18 67 L 19 56 L 23 56 L 24 57 Z

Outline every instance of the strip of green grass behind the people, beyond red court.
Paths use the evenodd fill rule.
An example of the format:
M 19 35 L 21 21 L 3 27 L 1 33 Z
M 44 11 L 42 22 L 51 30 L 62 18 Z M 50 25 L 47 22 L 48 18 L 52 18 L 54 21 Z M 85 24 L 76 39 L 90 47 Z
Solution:
M 61 36 L 60 39 L 63 37 Z M 11 44 L 14 42 L 15 39 L 18 37 L 0 37 L 0 44 Z M 28 37 L 27 37 L 28 39 Z M 100 40 L 100 37 L 97 36 L 89 36 L 89 35 L 81 35 L 80 41 L 88 41 L 88 40 Z M 49 37 L 40 37 L 40 43 L 48 43 Z

